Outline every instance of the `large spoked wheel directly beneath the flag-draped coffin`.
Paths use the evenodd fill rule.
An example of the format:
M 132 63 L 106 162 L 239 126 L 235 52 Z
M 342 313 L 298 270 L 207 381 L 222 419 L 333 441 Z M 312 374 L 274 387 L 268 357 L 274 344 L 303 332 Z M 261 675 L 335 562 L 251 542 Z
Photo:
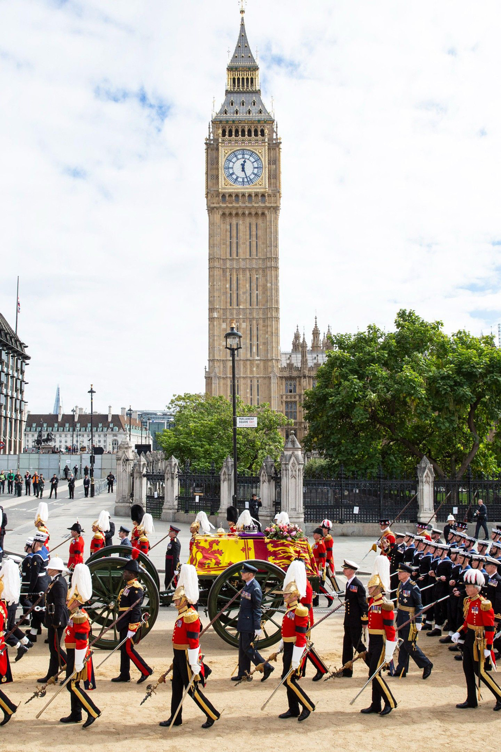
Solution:
M 254 644 L 258 648 L 270 647 L 270 645 L 278 642 L 281 637 L 282 614 L 277 613 L 276 609 L 283 608 L 283 597 L 274 591 L 282 590 L 285 573 L 271 562 L 261 561 L 261 559 L 253 559 L 246 563 L 258 569 L 255 578 L 263 591 L 261 623 L 263 623 L 264 637 Z M 213 587 L 210 588 L 207 603 L 210 620 L 213 620 L 216 614 L 225 607 L 225 604 L 231 601 L 235 593 L 238 593 L 243 587 L 240 572 L 242 572 L 242 563 L 232 564 L 214 581 Z M 234 645 L 234 647 L 238 645 L 237 619 L 239 608 L 240 596 L 234 600 L 228 610 L 223 611 L 219 619 L 213 624 L 219 637 L 222 637 L 225 642 Z

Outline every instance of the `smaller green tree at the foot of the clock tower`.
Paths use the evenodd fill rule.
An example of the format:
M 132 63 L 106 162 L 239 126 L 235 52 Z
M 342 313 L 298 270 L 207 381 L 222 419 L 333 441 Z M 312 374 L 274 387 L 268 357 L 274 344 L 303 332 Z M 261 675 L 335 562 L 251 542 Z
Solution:
M 215 462 L 220 468 L 233 454 L 233 411 L 225 397 L 183 394 L 172 399 L 174 428 L 158 434 L 158 443 L 166 456 L 174 454 L 180 462 L 189 459 L 196 468 L 208 470 Z M 240 468 L 257 472 L 269 454 L 279 459 L 284 441 L 279 429 L 289 421 L 270 406 L 244 405 L 237 397 L 237 415 L 257 415 L 258 427 L 237 429 L 237 461 Z

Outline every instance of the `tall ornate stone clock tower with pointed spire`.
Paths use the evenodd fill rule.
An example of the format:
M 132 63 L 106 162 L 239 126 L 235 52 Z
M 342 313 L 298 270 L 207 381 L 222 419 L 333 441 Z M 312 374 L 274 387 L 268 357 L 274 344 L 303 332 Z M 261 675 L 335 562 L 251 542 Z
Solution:
M 225 101 L 206 139 L 209 214 L 209 364 L 206 393 L 231 396 L 225 332 L 242 333 L 237 394 L 279 409 L 280 140 L 259 88 L 240 11 L 237 47 L 226 73 Z

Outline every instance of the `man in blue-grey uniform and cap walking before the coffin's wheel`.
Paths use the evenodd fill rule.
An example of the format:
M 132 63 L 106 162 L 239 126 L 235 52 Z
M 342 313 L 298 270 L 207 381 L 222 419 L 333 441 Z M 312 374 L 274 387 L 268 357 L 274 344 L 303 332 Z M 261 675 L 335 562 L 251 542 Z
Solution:
M 263 678 L 266 681 L 273 671 L 273 666 L 262 658 L 255 649 L 253 643 L 257 642 L 263 634 L 261 629 L 261 601 L 263 593 L 261 585 L 255 579 L 258 570 L 251 564 L 245 563 L 242 567 L 242 579 L 245 582 L 243 592 L 240 593 L 240 609 L 238 611 L 238 672 L 232 676 L 231 681 L 239 681 L 249 675 L 251 661 L 255 666 L 264 663 Z

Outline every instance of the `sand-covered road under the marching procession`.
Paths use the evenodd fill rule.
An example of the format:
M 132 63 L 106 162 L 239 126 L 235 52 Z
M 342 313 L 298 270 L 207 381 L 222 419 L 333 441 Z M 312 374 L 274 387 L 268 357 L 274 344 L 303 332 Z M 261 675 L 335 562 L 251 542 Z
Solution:
M 318 614 L 320 616 L 320 614 Z M 171 663 L 171 629 L 174 608 L 161 609 L 161 616 L 145 640 L 140 644 L 140 653 L 150 666 L 155 668 L 156 678 Z M 207 617 L 202 616 L 204 623 Z M 334 614 L 312 632 L 315 647 L 327 665 L 341 665 L 343 617 Z M 40 639 L 40 638 L 39 638 Z M 138 677 L 133 669 L 129 684 L 111 684 L 110 678 L 118 674 L 119 656 L 113 655 L 96 675 L 97 688 L 92 699 L 101 708 L 102 715 L 89 729 L 81 725 L 62 726 L 59 718 L 69 714 L 68 692 L 64 689 L 47 708 L 39 720 L 35 715 L 55 690 L 50 687 L 47 699 L 35 699 L 24 705 L 36 686 L 36 678 L 47 669 L 47 645 L 38 641 L 35 647 L 18 663 L 11 664 L 14 684 L 2 689 L 14 702 L 21 702 L 14 718 L 0 729 L 2 749 L 9 752 L 26 752 L 26 749 L 44 750 L 179 750 L 192 752 L 196 747 L 204 752 L 222 750 L 268 750 L 283 752 L 284 749 L 305 750 L 315 744 L 328 744 L 330 748 L 345 752 L 360 750 L 417 749 L 423 744 L 436 748 L 473 747 L 493 752 L 499 749 L 501 713 L 494 713 L 493 696 L 482 690 L 480 707 L 460 711 L 456 702 L 466 699 L 461 663 L 453 660 L 453 653 L 438 641 L 426 636 L 419 644 L 434 663 L 432 675 L 427 681 L 421 679 L 421 670 L 411 662 L 406 678 L 388 679 L 398 708 L 386 717 L 364 716 L 360 709 L 370 705 L 370 688 L 355 702 L 349 701 L 367 681 L 367 668 L 359 661 L 355 675 L 350 679 L 335 679 L 327 682 L 311 681 L 313 670 L 309 666 L 307 676 L 301 679 L 303 687 L 318 708 L 304 723 L 296 720 L 279 720 L 277 717 L 287 708 L 285 690 L 282 688 L 267 705 L 260 707 L 279 682 L 279 670 L 264 683 L 260 675 L 251 683 L 238 687 L 229 681 L 237 663 L 237 651 L 225 644 L 212 629 L 204 635 L 203 649 L 206 662 L 213 669 L 206 693 L 216 708 L 224 709 L 221 720 L 208 730 L 201 729 L 204 716 L 191 699 L 186 699 L 183 709 L 183 726 L 170 733 L 158 726 L 159 720 L 170 715 L 171 687 L 162 685 L 158 693 L 140 705 L 146 692 L 146 684 L 137 686 Z M 264 654 L 273 652 L 273 648 Z M 95 664 L 105 656 L 97 651 Z M 501 673 L 499 675 L 501 680 Z M 151 680 L 149 680 L 151 681 Z M 469 741 L 468 737 L 474 739 Z M 399 738 L 397 741 L 397 737 Z M 6 743 L 5 743 L 6 742 Z

